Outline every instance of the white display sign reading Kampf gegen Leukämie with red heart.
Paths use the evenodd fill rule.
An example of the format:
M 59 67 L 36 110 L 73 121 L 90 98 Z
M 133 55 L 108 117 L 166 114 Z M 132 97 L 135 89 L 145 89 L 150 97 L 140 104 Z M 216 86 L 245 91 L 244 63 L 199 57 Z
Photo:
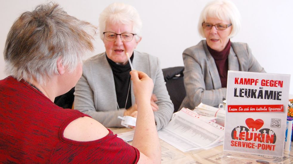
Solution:
M 224 151 L 283 156 L 290 75 L 228 71 Z

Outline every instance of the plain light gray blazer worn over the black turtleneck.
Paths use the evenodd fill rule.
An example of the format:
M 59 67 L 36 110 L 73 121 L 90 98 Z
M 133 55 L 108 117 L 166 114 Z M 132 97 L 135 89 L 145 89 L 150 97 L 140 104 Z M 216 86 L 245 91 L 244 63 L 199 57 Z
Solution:
M 154 116 L 156 128 L 159 130 L 168 124 L 174 111 L 159 60 L 146 53 L 134 51 L 132 64 L 134 69 L 145 72 L 153 79 L 153 93 L 158 98 L 156 104 L 159 106 Z M 122 127 L 121 120 L 117 117 L 123 117 L 125 109 L 117 109 L 114 77 L 105 52 L 84 62 L 83 74 L 75 86 L 74 95 L 74 109 L 90 115 L 105 127 Z M 135 103 L 132 84 L 131 102 Z

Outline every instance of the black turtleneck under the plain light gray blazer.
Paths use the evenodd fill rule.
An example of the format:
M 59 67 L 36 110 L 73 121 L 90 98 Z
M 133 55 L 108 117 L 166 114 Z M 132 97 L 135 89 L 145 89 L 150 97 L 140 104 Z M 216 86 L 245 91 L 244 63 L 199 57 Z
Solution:
M 114 61 L 109 59 L 107 55 L 106 55 L 106 58 L 113 72 L 117 103 L 119 108 L 121 109 L 125 107 L 128 87 L 130 87 L 129 72 L 131 71 L 131 67 L 129 63 L 127 63 L 124 66 L 116 64 Z M 131 62 L 133 58 L 134 58 L 134 54 L 132 54 L 130 57 Z M 130 90 L 128 94 L 126 109 L 128 109 L 129 107 L 131 107 L 131 91 Z

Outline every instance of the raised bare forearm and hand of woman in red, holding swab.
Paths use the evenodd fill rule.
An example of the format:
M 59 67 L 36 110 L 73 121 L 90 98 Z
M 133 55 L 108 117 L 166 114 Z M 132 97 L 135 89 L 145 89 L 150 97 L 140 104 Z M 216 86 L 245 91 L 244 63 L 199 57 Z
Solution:
M 131 71 L 133 91 L 137 102 L 137 121 L 132 146 L 141 152 L 138 163 L 160 163 L 161 145 L 151 108 L 152 79 L 143 72 Z

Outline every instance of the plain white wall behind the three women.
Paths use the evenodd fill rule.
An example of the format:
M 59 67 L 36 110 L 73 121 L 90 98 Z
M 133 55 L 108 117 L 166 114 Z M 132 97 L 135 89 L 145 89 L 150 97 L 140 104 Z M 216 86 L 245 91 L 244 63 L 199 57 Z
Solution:
M 118 0 L 119 1 L 119 0 Z M 247 42 L 252 53 L 268 73 L 292 74 L 293 1 L 232 0 L 242 19 L 241 31 L 232 42 Z M 45 0 L 1 1 L 0 51 L 3 52 L 7 33 L 14 20 L 24 11 L 31 11 Z M 57 0 L 69 15 L 98 25 L 100 12 L 114 0 Z M 143 38 L 137 50 L 157 56 L 161 67 L 183 66 L 182 52 L 197 44 L 198 17 L 205 0 L 124 0 L 139 12 L 143 23 Z M 96 39 L 92 56 L 105 51 Z M 4 59 L 0 57 L 0 79 L 5 78 Z M 291 78 L 289 93 L 293 94 Z

